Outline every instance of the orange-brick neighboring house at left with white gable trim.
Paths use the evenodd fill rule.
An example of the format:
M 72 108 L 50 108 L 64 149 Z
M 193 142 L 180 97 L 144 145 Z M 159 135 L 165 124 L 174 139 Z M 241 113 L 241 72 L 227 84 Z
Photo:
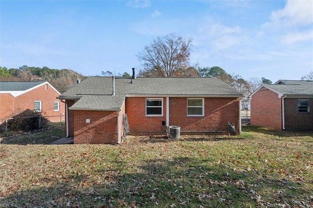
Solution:
M 48 82 L 0 82 L 0 123 L 30 109 L 42 112 L 51 122 L 64 121 L 60 93 Z

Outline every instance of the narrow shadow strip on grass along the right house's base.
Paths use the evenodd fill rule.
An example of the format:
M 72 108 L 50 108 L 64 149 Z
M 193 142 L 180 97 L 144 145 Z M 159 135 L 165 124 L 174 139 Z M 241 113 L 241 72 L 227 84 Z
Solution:
M 309 136 L 313 137 L 313 131 L 283 131 L 283 130 L 274 130 L 260 126 L 253 125 L 242 125 L 242 131 L 245 132 L 258 132 L 273 136 L 281 137 L 296 137 L 296 136 Z

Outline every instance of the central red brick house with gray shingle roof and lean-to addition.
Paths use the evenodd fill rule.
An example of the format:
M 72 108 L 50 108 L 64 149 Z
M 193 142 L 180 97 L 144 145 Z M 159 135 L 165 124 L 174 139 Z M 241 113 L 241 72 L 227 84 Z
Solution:
M 216 78 L 89 77 L 58 98 L 74 144 L 117 144 L 126 133 L 164 135 L 172 125 L 181 134 L 228 134 L 229 122 L 239 133 L 241 97 Z

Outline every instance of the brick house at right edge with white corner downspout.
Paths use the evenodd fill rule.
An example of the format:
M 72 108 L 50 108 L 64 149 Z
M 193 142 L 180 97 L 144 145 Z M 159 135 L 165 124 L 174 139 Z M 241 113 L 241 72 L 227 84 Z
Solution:
M 251 125 L 278 130 L 313 130 L 313 81 L 262 84 L 250 96 Z

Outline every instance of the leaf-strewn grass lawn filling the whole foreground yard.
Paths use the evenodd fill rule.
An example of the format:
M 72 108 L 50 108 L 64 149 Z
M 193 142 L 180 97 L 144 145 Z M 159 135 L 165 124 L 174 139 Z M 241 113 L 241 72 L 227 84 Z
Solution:
M 313 132 L 242 130 L 116 146 L 0 138 L 0 207 L 313 207 Z

